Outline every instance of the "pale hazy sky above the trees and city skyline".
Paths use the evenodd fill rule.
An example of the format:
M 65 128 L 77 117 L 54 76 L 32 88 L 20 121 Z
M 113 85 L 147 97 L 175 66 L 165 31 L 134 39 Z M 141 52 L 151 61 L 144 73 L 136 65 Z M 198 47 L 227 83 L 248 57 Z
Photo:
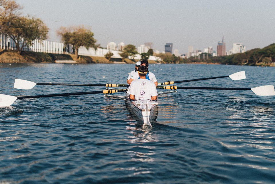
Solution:
M 90 26 L 97 43 L 124 42 L 136 47 L 152 42 L 153 49 L 187 53 L 217 43 L 242 43 L 246 50 L 263 48 L 275 42 L 275 0 L 15 0 L 50 28 L 49 39 L 60 41 L 61 26 Z

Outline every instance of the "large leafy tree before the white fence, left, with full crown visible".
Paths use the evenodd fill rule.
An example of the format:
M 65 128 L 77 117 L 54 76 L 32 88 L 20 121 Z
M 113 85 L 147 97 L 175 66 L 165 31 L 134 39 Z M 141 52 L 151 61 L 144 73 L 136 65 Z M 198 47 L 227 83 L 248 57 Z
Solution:
M 42 20 L 27 16 L 11 20 L 3 32 L 15 42 L 17 52 L 21 54 L 23 47 L 33 45 L 35 39 L 45 40 L 48 30 Z

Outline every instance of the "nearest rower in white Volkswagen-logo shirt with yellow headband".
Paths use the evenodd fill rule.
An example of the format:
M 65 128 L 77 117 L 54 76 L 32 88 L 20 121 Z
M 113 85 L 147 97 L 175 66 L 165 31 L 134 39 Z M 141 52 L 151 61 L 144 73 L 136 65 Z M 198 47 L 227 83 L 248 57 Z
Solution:
M 148 68 L 146 66 L 140 66 L 137 69 L 139 79 L 131 82 L 128 89 L 129 98 L 131 100 L 156 100 L 158 96 L 157 88 L 154 82 L 146 79 Z

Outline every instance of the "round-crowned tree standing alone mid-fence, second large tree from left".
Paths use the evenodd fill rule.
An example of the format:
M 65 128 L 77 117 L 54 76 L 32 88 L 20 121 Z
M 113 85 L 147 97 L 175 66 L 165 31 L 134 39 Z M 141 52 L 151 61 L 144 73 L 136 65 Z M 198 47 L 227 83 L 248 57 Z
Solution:
M 84 46 L 86 49 L 89 49 L 89 47 L 94 47 L 95 50 L 97 49 L 97 40 L 94 38 L 94 33 L 91 32 L 91 28 L 85 28 L 83 25 L 69 28 L 61 27 L 57 31 L 57 34 L 61 36 L 65 45 L 74 45 L 77 58 L 80 46 Z

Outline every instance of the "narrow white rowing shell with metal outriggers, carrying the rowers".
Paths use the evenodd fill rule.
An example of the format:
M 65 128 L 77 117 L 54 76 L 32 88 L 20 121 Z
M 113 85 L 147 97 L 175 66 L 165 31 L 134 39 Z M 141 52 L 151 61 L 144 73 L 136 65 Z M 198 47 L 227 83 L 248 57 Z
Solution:
M 158 94 L 167 94 L 167 93 L 172 93 L 172 92 L 177 92 L 177 91 L 170 91 L 170 92 L 161 92 Z M 140 100 L 131 100 L 125 92 L 125 96 L 115 96 L 115 95 L 104 95 L 108 97 L 113 97 L 113 98 L 119 98 L 126 100 L 135 115 L 137 115 L 139 120 L 143 121 L 143 126 L 144 125 L 149 125 L 152 127 L 152 124 L 150 123 L 152 117 L 156 115 L 156 105 L 158 105 L 158 98 L 156 101 L 154 100 L 147 100 L 147 99 L 140 99 Z

